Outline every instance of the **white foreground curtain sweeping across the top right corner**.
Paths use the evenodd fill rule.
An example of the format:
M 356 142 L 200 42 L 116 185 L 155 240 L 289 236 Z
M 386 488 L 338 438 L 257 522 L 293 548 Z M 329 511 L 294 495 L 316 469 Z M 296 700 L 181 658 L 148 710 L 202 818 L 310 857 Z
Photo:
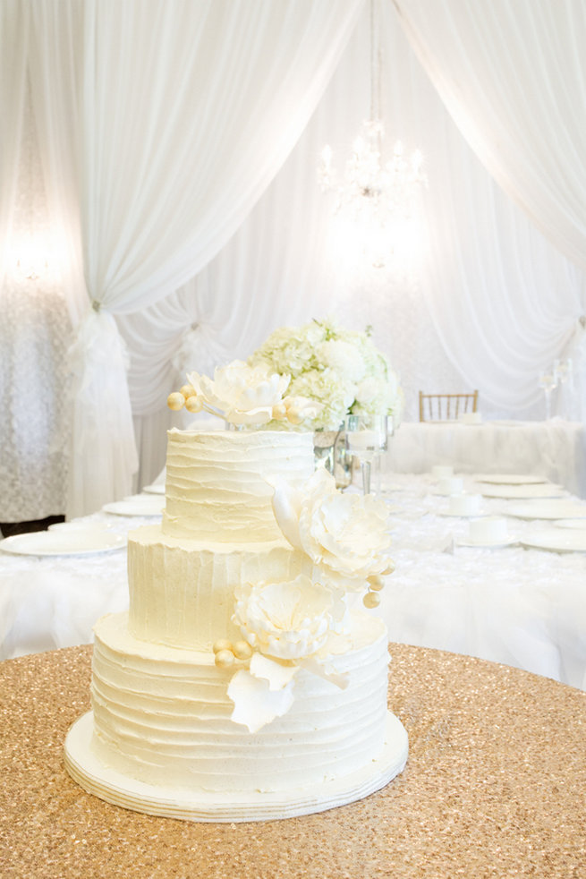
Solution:
M 586 270 L 586 6 L 582 0 L 395 0 L 482 163 Z

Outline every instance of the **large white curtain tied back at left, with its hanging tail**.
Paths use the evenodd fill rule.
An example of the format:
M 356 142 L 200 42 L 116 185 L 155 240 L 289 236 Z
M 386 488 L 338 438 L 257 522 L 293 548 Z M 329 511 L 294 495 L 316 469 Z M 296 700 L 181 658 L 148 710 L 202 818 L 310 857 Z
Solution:
M 68 516 L 128 494 L 136 469 L 123 344 L 98 311 L 156 302 L 217 253 L 298 138 L 360 5 L 31 4 L 48 196 L 81 316 Z M 112 353 L 107 380 L 87 344 Z

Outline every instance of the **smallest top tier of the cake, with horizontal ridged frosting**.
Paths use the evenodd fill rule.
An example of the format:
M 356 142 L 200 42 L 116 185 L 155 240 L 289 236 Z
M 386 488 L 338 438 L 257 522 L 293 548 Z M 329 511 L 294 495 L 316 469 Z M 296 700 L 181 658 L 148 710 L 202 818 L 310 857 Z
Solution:
M 163 531 L 215 543 L 282 539 L 270 481 L 301 484 L 313 466 L 310 433 L 168 431 Z

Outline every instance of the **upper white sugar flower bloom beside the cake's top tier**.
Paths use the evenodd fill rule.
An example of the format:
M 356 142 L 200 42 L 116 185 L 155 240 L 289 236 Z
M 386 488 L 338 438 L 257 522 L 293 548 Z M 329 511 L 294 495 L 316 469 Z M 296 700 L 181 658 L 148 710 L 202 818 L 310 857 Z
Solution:
M 334 584 L 360 591 L 388 568 L 389 516 L 383 500 L 342 494 L 321 467 L 302 490 L 276 485 L 273 508 L 285 538 Z

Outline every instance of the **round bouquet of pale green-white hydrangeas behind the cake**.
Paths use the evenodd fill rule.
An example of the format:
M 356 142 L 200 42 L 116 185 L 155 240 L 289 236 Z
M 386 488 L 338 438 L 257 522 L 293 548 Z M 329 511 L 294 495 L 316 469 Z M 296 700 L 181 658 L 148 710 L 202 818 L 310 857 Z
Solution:
M 348 414 L 392 415 L 395 429 L 401 422 L 403 390 L 369 329 L 340 329 L 328 320 L 282 327 L 248 363 L 290 376 L 289 393 L 318 404 L 318 412 L 306 414 L 301 429 L 337 430 Z

